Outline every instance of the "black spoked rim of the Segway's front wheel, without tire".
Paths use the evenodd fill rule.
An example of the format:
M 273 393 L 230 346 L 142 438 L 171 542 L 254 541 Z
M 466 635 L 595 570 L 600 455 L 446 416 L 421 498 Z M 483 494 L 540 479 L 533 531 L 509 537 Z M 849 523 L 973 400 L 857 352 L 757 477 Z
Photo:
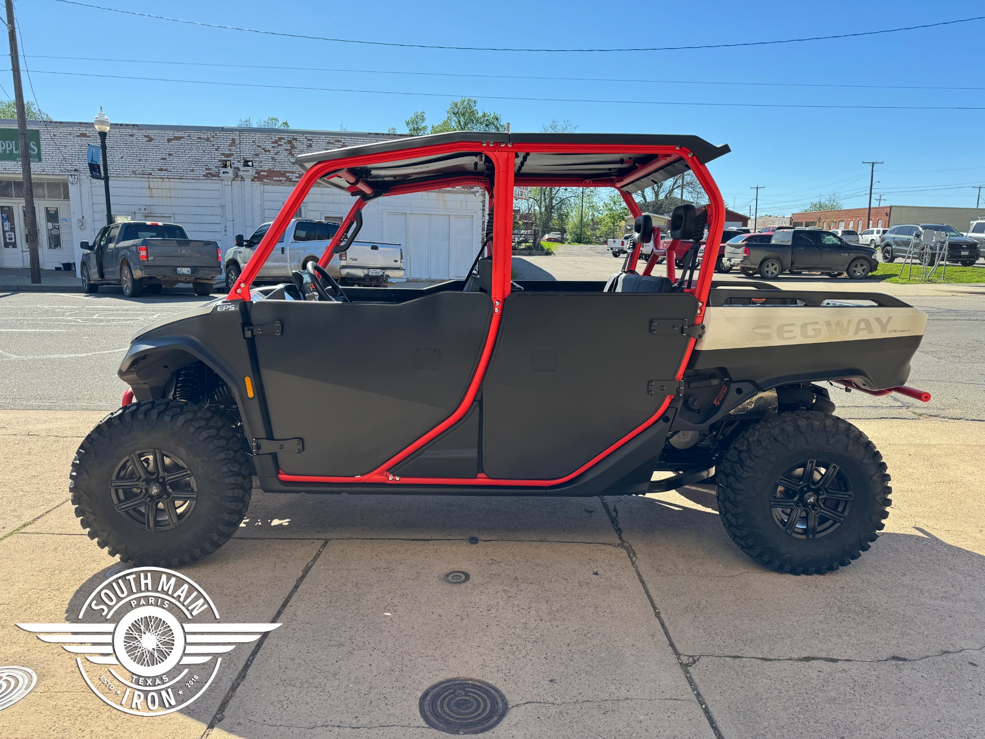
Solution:
M 162 449 L 141 449 L 121 459 L 109 479 L 109 495 L 116 512 L 145 531 L 177 528 L 198 500 L 191 470 Z

